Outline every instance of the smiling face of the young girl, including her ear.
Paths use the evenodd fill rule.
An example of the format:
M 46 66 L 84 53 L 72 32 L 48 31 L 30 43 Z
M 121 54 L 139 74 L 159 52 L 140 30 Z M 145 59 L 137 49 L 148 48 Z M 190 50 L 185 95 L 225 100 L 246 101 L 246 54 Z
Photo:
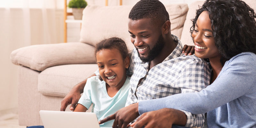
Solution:
M 129 57 L 123 59 L 119 50 L 102 49 L 96 53 L 96 60 L 101 78 L 111 87 L 123 86 L 126 80 L 126 69 Z

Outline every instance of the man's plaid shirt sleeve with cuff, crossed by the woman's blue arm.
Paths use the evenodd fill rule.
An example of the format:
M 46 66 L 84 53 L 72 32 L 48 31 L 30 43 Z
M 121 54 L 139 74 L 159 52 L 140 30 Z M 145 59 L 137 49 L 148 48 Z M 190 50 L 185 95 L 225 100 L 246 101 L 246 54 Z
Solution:
M 204 61 L 192 61 L 184 68 L 175 86 L 181 89 L 181 93 L 200 92 L 210 84 L 210 70 Z M 187 116 L 186 127 L 201 127 L 204 125 L 204 114 L 191 114 L 183 111 Z

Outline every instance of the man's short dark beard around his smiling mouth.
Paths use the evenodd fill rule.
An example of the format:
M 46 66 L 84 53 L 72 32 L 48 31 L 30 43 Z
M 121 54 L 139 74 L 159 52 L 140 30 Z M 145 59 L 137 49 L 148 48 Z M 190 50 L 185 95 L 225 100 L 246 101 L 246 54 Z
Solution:
M 142 62 L 150 62 L 152 60 L 154 60 L 162 51 L 162 49 L 164 48 L 164 37 L 161 34 L 156 42 L 156 44 L 154 45 L 154 47 L 149 51 L 148 53 L 148 57 L 141 57 L 138 48 L 136 48 L 140 60 L 142 60 Z

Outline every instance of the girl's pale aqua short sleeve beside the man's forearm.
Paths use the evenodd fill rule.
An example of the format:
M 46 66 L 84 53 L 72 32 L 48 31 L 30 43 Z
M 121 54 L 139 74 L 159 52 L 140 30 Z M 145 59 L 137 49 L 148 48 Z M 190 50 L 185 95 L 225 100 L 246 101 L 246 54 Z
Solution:
M 84 86 L 84 93 L 82 94 L 81 98 L 78 100 L 78 104 L 83 105 L 85 108 L 89 109 L 92 104 L 91 99 L 91 79 L 88 78 L 87 82 Z

